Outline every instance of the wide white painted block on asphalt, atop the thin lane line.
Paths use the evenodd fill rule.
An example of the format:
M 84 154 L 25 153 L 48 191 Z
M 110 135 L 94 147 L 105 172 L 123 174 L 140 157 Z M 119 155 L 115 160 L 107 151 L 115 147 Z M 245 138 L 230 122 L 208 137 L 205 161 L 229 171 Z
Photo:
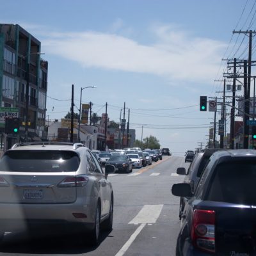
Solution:
M 140 212 L 129 222 L 129 224 L 156 223 L 162 211 L 163 204 L 144 205 Z

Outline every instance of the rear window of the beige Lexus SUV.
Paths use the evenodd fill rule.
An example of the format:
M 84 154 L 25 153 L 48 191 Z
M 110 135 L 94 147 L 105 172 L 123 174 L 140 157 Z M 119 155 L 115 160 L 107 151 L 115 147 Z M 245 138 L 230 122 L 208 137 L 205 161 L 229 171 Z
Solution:
M 0 161 L 0 172 L 76 172 L 80 158 L 66 150 L 10 150 Z

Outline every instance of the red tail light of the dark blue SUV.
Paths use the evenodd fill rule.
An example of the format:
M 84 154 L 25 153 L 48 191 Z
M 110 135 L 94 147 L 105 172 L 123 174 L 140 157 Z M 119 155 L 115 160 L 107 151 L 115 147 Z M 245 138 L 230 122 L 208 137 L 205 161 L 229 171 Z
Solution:
M 215 211 L 194 210 L 191 239 L 196 248 L 215 252 Z

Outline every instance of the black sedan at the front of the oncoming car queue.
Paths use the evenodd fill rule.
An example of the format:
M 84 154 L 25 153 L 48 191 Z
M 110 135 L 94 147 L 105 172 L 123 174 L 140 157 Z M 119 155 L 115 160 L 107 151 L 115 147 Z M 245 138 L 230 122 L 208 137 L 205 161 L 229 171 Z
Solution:
M 122 155 L 113 155 L 109 158 L 108 164 L 112 164 L 115 166 L 115 171 L 132 172 L 132 161 L 127 154 Z

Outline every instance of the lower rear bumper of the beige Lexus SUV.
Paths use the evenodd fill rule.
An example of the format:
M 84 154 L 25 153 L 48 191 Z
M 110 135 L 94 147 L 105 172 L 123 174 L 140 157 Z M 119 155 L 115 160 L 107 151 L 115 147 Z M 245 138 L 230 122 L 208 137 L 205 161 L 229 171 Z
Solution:
M 95 220 L 95 205 L 82 204 L 0 204 L 0 228 L 4 231 L 67 228 L 91 229 Z M 84 214 L 76 218 L 73 213 Z

